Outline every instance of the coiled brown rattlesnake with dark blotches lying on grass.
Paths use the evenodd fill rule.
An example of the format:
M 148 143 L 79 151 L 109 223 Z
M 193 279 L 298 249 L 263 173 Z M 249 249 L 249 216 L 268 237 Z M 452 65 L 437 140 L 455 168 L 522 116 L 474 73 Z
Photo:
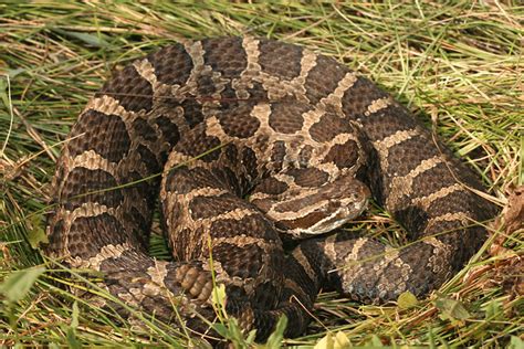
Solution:
M 114 73 L 73 126 L 53 184 L 48 255 L 193 330 L 196 313 L 213 320 L 223 284 L 227 314 L 258 340 L 282 315 L 285 336 L 304 332 L 321 289 L 423 296 L 478 251 L 475 222 L 494 214 L 475 174 L 370 81 L 250 36 L 174 44 Z M 413 243 L 337 230 L 370 195 Z M 147 255 L 158 197 L 172 262 Z

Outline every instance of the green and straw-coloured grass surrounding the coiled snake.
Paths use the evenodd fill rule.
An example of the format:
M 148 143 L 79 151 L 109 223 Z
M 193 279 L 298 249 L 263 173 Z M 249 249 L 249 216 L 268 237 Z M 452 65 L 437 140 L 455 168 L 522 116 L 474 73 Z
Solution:
M 35 242 L 61 142 L 113 68 L 172 41 L 250 33 L 305 45 L 369 76 L 505 207 L 469 266 L 427 299 L 371 306 L 322 294 L 307 334 L 283 343 L 307 348 L 342 331 L 350 346 L 523 348 L 523 230 L 507 214 L 522 207 L 510 198 L 524 181 L 523 21 L 517 1 L 0 1 L 0 345 L 185 345 L 184 334 L 161 324 L 137 329 L 83 306 L 56 287 L 67 279 L 50 272 L 62 266 L 35 267 L 44 265 Z M 378 208 L 354 225 L 398 241 Z M 167 254 L 158 237 L 151 250 Z

